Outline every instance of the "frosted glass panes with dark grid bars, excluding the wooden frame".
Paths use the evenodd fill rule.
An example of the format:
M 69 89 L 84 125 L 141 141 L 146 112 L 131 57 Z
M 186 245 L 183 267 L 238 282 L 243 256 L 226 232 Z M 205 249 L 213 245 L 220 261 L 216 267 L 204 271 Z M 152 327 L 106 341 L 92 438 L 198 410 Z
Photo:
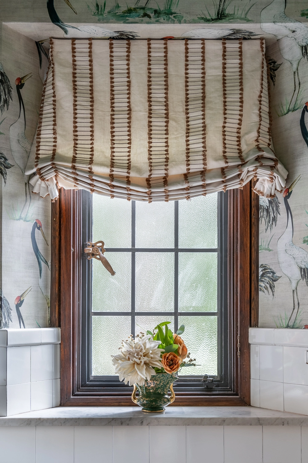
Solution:
M 199 364 L 182 370 L 185 382 L 176 382 L 175 390 L 190 382 L 204 389 L 205 374 L 215 379 L 216 387 L 227 381 L 220 355 L 223 338 L 225 344 L 228 339 L 227 326 L 220 323 L 227 200 L 227 194 L 216 193 L 148 204 L 88 194 L 91 241 L 103 239 L 116 275 L 95 259 L 85 261 L 92 281 L 90 332 L 82 346 L 90 357 L 87 382 L 116 384 L 110 355 L 117 353 L 121 339 L 165 320 L 174 331 L 186 326 L 186 344 Z

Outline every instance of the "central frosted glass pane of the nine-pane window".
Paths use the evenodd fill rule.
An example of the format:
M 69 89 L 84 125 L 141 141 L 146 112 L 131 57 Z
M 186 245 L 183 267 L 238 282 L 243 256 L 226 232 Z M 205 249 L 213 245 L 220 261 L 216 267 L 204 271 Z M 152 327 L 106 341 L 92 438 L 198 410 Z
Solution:
M 136 311 L 174 311 L 174 254 L 136 252 Z

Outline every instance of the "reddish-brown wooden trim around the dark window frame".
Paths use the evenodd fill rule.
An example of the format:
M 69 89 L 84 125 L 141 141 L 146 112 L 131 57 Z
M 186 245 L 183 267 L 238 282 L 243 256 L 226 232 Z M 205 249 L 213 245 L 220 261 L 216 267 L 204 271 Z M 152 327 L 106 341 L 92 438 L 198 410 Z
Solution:
M 219 396 L 205 392 L 198 397 L 177 397 L 175 406 L 250 404 L 248 328 L 258 325 L 259 198 L 252 191 L 251 182 L 242 190 L 229 190 L 228 194 L 231 390 Z M 81 216 L 80 192 L 61 189 L 59 200 L 52 204 L 50 314 L 51 325 L 61 325 L 61 405 L 131 406 L 130 397 L 90 396 L 80 387 L 76 359 L 80 354 Z

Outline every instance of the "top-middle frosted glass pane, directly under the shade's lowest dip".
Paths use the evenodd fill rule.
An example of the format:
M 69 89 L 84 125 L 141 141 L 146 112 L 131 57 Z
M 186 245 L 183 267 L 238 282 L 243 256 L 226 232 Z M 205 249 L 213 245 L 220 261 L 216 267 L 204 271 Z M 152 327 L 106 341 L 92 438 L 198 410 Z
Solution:
M 136 248 L 174 248 L 174 201 L 136 201 Z

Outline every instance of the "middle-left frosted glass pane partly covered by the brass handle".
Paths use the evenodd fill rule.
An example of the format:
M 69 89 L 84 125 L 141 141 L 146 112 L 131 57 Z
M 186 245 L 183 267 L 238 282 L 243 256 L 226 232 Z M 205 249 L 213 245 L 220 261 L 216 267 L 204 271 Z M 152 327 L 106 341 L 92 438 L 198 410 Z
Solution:
M 101 261 L 92 259 L 92 310 L 130 312 L 132 255 L 130 252 L 105 252 L 104 256 L 115 275 L 110 275 Z

